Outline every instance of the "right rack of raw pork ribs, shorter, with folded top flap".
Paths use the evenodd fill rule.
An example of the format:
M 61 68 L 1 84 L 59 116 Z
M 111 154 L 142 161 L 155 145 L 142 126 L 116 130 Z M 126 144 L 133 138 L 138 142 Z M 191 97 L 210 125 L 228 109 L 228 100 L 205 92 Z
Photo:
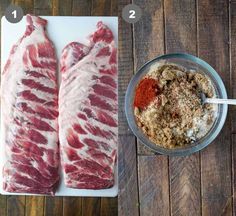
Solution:
M 60 152 L 67 187 L 104 189 L 114 184 L 117 154 L 117 50 L 102 22 L 89 39 L 62 51 Z

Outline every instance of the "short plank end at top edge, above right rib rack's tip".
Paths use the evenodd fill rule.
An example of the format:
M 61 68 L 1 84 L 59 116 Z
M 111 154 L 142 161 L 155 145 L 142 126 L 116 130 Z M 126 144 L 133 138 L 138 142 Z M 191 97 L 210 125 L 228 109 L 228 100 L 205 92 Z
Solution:
M 92 16 L 110 16 L 111 0 L 92 0 Z

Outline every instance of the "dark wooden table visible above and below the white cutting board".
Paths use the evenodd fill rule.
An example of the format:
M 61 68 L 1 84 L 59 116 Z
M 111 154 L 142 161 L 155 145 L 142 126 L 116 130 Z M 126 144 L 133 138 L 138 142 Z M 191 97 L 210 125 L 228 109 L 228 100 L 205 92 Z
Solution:
M 24 14 L 117 16 L 116 0 L 1 0 L 0 17 L 14 3 Z M 79 28 L 78 28 L 79 31 Z M 65 32 L 66 34 L 66 32 Z M 117 198 L 1 196 L 0 216 L 116 216 Z

